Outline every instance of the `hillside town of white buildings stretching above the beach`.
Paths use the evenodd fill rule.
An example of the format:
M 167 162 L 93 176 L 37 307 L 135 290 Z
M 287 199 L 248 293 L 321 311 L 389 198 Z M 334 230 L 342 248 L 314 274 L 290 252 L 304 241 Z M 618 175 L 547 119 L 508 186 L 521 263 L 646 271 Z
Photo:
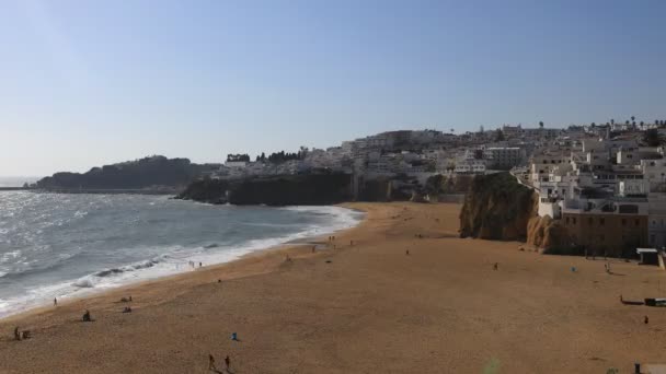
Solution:
M 475 132 L 388 131 L 328 149 L 228 155 L 211 178 L 345 173 L 425 186 L 428 178 L 510 172 L 561 220 L 572 246 L 613 253 L 666 245 L 666 122 L 503 125 Z

